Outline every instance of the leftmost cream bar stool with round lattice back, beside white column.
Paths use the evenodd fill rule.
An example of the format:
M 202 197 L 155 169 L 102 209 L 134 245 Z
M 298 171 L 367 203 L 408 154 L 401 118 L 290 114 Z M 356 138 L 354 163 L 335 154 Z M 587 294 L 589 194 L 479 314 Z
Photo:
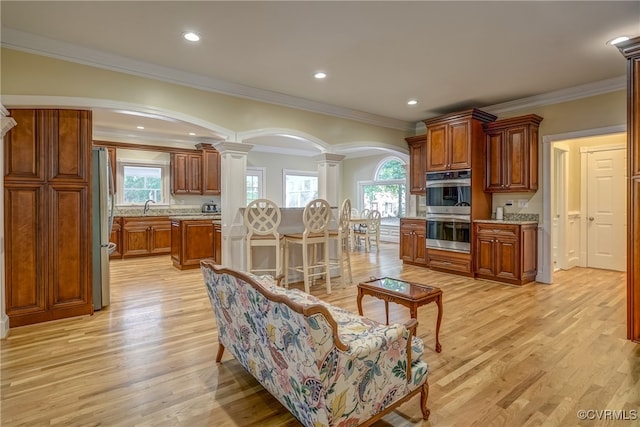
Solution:
M 250 273 L 274 272 L 278 277 L 282 273 L 282 255 L 284 236 L 278 233 L 282 215 L 280 208 L 269 199 L 256 199 L 244 210 L 244 225 L 247 227 L 247 271 Z M 253 268 L 252 249 L 271 246 L 275 249 L 274 268 Z

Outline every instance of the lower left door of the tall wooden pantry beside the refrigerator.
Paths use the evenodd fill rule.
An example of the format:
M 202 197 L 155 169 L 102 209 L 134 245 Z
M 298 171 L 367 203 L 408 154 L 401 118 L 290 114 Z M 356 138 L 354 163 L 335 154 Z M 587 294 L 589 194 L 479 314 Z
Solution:
M 7 184 L 4 204 L 6 308 L 18 326 L 14 316 L 46 310 L 44 185 Z

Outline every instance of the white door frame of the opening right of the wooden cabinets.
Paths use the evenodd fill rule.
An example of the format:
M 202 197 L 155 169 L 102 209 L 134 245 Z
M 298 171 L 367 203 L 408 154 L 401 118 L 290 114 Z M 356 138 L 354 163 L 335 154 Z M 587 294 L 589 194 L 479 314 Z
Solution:
M 608 126 L 582 131 L 544 135 L 542 137 L 542 225 L 538 227 L 538 273 L 536 281 L 539 283 L 553 283 L 553 240 L 551 217 L 551 202 L 554 189 L 552 186 L 553 171 L 553 143 L 567 139 L 578 139 L 589 136 L 601 136 L 627 132 L 627 125 Z

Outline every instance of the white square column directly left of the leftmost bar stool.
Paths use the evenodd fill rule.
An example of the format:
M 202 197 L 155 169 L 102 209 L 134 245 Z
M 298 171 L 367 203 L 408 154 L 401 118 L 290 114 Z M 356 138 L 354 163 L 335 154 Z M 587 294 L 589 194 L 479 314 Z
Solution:
M 221 158 L 222 264 L 244 271 L 246 230 L 240 208 L 247 205 L 247 153 L 253 145 L 238 142 L 213 145 Z

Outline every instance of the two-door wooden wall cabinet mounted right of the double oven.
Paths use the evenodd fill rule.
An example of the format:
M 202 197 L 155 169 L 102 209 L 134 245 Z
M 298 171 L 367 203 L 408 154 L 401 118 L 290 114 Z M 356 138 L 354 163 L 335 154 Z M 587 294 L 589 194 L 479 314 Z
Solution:
M 488 192 L 524 192 L 538 189 L 538 128 L 535 114 L 484 125 Z

